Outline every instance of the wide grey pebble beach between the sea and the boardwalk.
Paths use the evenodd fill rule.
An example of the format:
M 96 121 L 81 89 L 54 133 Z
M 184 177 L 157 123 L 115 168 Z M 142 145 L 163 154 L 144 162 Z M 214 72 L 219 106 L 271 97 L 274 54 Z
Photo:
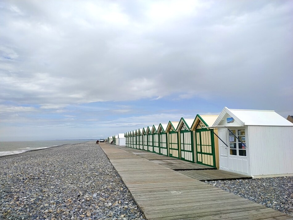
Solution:
M 144 219 L 96 144 L 0 158 L 0 219 Z

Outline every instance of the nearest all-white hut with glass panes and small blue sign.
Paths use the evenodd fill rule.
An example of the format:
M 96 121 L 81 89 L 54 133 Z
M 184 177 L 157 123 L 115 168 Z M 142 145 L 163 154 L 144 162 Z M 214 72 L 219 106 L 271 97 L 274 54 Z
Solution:
M 293 175 L 293 124 L 275 111 L 225 107 L 213 127 L 220 169 L 255 178 Z

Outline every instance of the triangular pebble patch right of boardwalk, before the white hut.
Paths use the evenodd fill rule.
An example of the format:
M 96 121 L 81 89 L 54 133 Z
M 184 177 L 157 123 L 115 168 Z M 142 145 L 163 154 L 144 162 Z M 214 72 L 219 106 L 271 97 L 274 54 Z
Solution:
M 293 216 L 293 176 L 205 182 Z

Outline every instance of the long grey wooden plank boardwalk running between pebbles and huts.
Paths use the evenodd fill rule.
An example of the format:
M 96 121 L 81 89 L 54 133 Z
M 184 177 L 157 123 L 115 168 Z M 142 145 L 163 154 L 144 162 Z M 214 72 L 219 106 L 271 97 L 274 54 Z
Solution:
M 131 152 L 100 146 L 148 220 L 293 220 Z

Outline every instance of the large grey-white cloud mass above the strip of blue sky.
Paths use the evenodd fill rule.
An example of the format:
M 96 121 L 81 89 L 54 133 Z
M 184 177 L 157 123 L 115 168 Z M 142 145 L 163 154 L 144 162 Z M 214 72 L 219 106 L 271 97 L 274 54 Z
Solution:
M 288 108 L 292 1 L 176 4 L 7 2 L 0 99 L 49 105 L 241 96 Z

